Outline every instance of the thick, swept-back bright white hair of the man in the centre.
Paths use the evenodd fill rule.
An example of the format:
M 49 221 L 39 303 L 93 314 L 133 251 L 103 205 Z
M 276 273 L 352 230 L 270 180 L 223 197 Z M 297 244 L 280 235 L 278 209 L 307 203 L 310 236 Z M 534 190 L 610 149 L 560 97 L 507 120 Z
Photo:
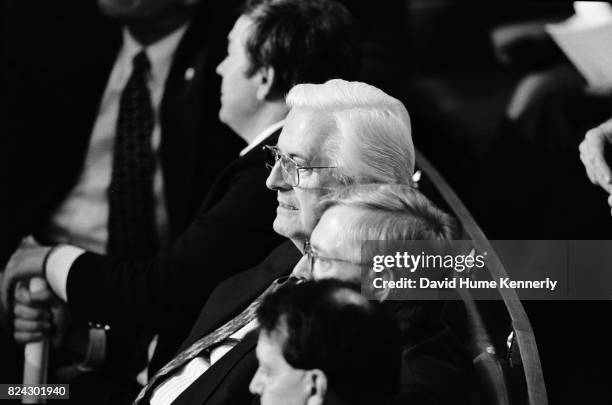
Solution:
M 329 114 L 335 130 L 324 154 L 345 184 L 411 184 L 414 146 L 404 105 L 377 89 L 341 79 L 298 84 L 287 94 L 289 108 Z

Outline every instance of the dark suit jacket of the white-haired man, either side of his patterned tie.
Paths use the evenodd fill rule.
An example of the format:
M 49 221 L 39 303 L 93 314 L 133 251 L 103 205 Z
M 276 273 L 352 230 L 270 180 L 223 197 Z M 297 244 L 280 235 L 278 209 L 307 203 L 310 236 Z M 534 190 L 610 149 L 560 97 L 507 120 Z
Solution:
M 275 279 L 291 274 L 300 258 L 300 251 L 291 241 L 286 241 L 257 267 L 219 284 L 179 352 L 242 312 Z M 174 404 L 252 404 L 253 395 L 248 387 L 257 368 L 256 344 L 257 334 L 248 334 L 191 384 Z

